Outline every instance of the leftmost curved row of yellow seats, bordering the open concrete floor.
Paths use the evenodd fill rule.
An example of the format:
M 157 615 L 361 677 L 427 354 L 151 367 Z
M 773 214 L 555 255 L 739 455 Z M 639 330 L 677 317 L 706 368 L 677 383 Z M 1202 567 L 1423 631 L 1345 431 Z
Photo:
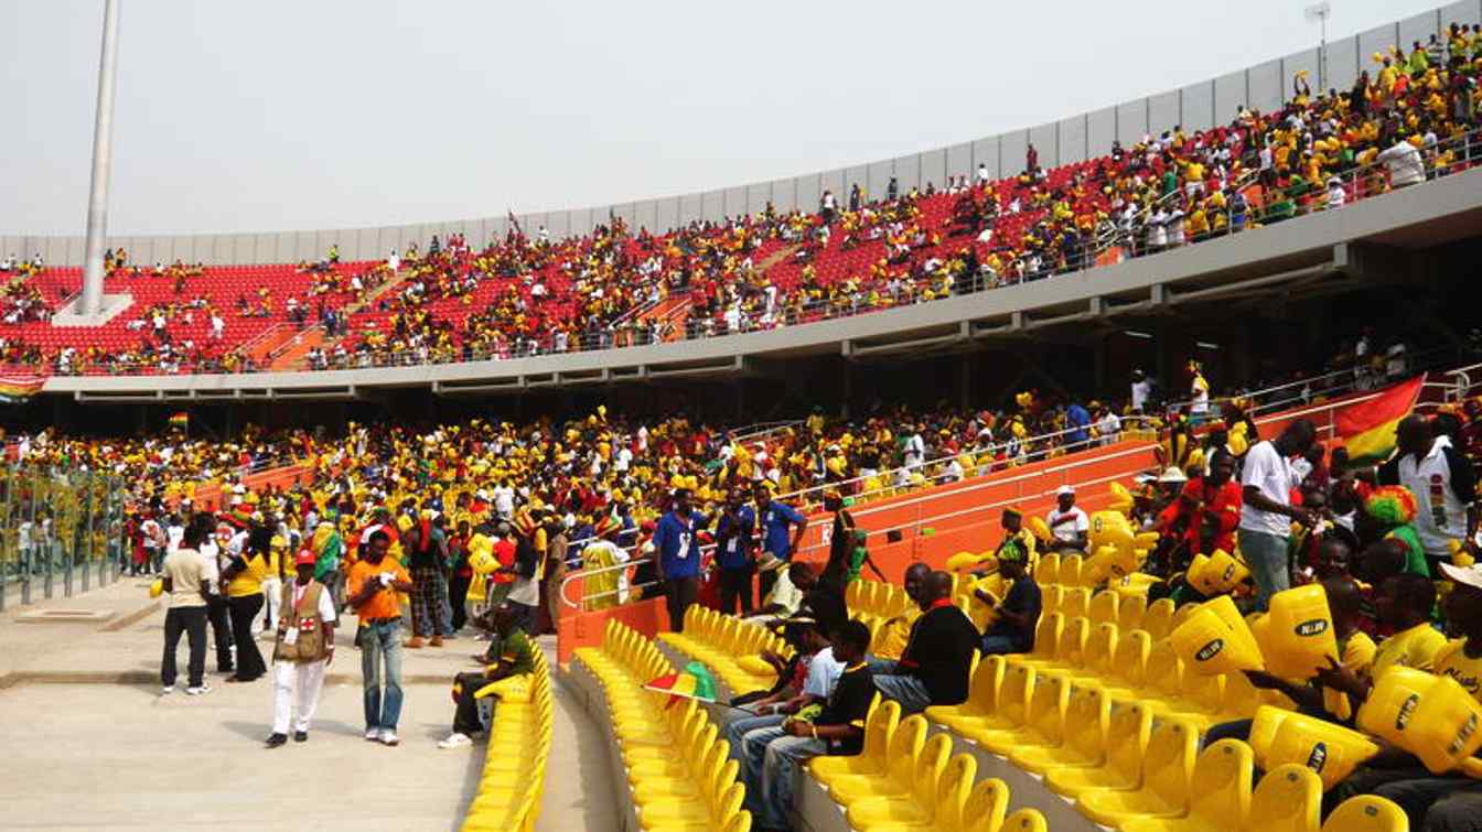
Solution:
M 462 831 L 529 832 L 535 829 L 541 810 L 554 725 L 545 654 L 535 653 L 535 671 L 528 681 L 499 681 L 480 690 L 477 696 L 492 696 L 492 688 L 498 690 L 499 705 L 489 728 L 483 777 L 468 805 Z

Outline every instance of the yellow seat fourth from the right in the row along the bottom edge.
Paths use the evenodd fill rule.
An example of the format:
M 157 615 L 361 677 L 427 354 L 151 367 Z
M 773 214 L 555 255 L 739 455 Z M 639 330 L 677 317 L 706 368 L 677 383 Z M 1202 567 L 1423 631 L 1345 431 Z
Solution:
M 1135 817 L 1178 817 L 1189 805 L 1197 754 L 1199 730 L 1186 719 L 1168 719 L 1147 740 L 1141 786 L 1082 792 L 1076 808 L 1103 826 L 1120 826 Z

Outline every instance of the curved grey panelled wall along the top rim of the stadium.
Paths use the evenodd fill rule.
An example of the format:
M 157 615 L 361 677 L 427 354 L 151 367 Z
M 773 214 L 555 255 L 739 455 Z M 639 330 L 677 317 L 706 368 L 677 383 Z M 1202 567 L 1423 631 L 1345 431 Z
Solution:
M 1375 68 L 1371 61 L 1374 52 L 1387 50 L 1392 44 L 1408 49 L 1414 40 L 1424 43 L 1432 33 L 1441 31 L 1451 22 L 1467 25 L 1482 22 L 1482 0 L 1448 3 L 1329 43 L 1328 86 L 1335 89 L 1352 86 L 1360 71 Z M 1313 40 L 1316 38 L 1317 31 L 1313 27 Z M 925 188 L 928 182 L 940 188 L 947 176 L 971 175 L 978 163 L 986 163 L 994 176 L 1009 176 L 1024 169 L 1027 142 L 1034 144 L 1042 166 L 1057 166 L 1103 155 L 1110 151 L 1113 139 L 1129 145 L 1147 133 L 1160 133 L 1178 124 L 1186 130 L 1226 124 L 1240 105 L 1260 110 L 1279 108 L 1289 98 L 1292 76 L 1298 70 L 1307 70 L 1309 83 L 1317 89 L 1319 62 L 1319 50 L 1315 46 L 1183 89 L 948 148 L 701 194 L 517 216 L 528 234 L 534 234 L 539 225 L 545 225 L 553 235 L 585 234 L 593 227 L 608 222 L 609 213 L 649 231 L 665 231 L 697 219 L 719 221 L 723 216 L 754 213 L 762 210 L 768 200 L 782 212 L 794 207 L 817 210 L 818 197 L 824 189 L 831 189 L 845 200 L 855 182 L 871 197 L 883 197 L 891 176 L 898 179 L 901 192 L 911 187 Z M 482 246 L 491 237 L 502 237 L 507 225 L 501 213 L 483 219 L 421 225 L 236 235 L 116 237 L 108 243 L 111 247 L 124 246 L 130 259 L 142 264 L 173 259 L 209 265 L 296 262 L 323 256 L 332 243 L 339 244 L 344 259 L 362 261 L 385 258 L 391 249 L 405 252 L 413 241 L 425 247 L 433 234 L 446 237 L 452 231 L 462 231 L 470 244 Z M 80 237 L 0 235 L 0 252 L 22 258 L 40 252 L 53 265 L 80 265 L 83 258 Z

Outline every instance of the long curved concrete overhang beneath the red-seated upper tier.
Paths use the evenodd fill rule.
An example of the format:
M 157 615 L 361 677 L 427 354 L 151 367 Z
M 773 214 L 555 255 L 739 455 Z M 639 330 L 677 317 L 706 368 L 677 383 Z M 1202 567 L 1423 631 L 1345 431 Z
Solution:
M 1279 293 L 1310 298 L 1412 278 L 1415 252 L 1482 235 L 1470 170 L 1232 237 L 1048 280 L 784 329 L 622 349 L 366 370 L 199 376 L 58 376 L 77 401 L 347 400 L 376 389 L 520 394 L 581 385 L 753 375 L 778 361 L 968 351 L 990 339 L 1106 332 L 1117 317 L 1177 315 Z

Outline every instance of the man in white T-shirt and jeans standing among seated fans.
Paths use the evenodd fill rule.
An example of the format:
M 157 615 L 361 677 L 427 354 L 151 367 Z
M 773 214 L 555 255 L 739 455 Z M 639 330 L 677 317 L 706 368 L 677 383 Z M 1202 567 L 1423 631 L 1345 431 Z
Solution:
M 1288 539 L 1292 521 L 1313 523 L 1307 511 L 1291 503 L 1292 492 L 1301 484 L 1291 459 L 1306 456 L 1316 435 L 1312 422 L 1298 419 L 1279 437 L 1255 443 L 1245 454 L 1239 543 L 1255 577 L 1254 608 L 1258 611 L 1266 610 L 1272 594 L 1291 586 Z

